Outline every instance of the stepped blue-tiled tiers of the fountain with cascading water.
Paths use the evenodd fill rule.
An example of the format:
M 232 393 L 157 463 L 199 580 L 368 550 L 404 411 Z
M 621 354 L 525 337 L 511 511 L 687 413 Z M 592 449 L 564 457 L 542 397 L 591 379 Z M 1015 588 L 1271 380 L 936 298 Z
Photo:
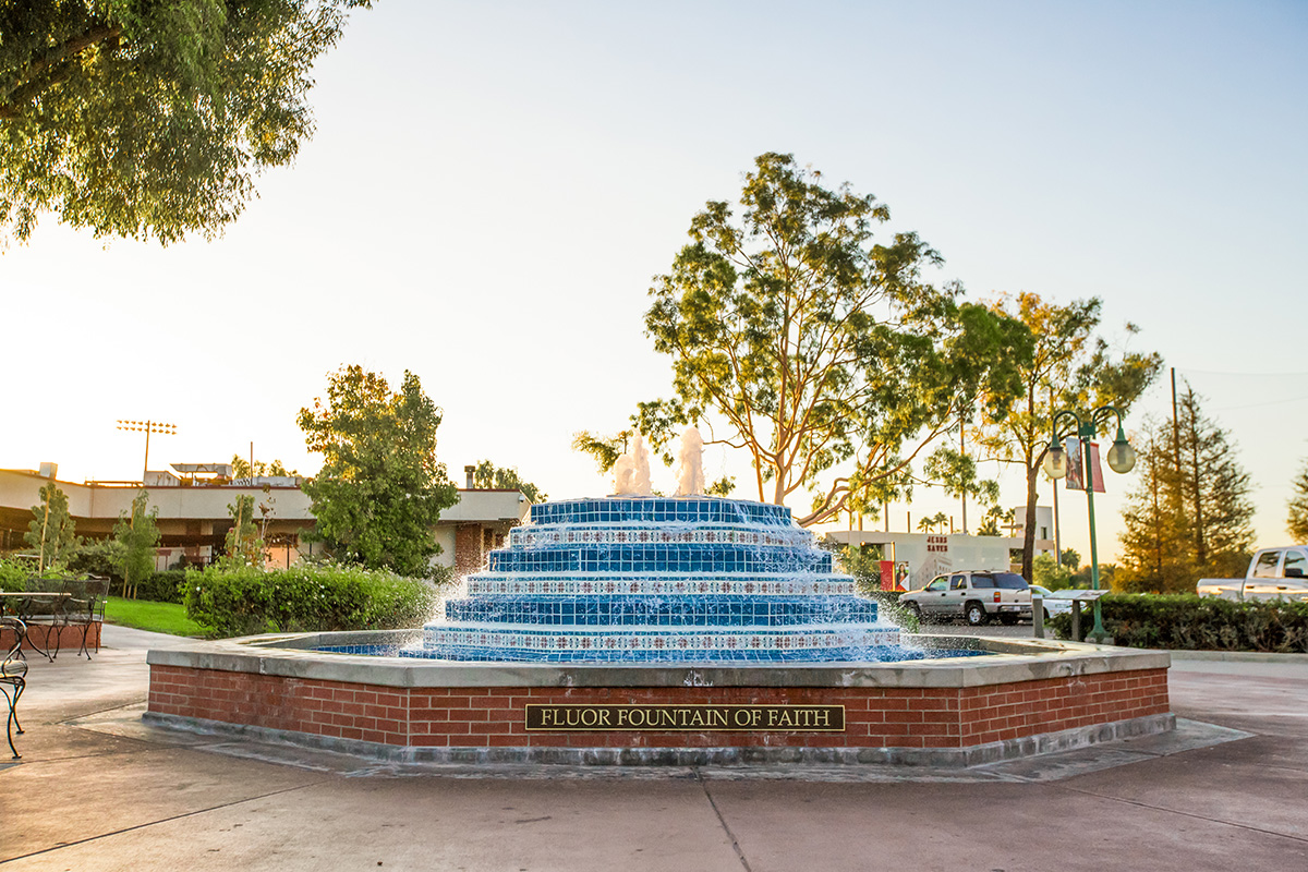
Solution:
M 531 507 L 422 654 L 449 660 L 888 660 L 899 628 L 783 506 L 611 497 Z

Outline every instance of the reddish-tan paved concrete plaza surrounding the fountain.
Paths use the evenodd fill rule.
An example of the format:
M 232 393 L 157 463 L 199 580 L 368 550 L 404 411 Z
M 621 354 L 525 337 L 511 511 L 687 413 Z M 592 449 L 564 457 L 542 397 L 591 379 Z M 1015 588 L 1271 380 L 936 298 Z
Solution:
M 166 638 L 33 658 L 5 871 L 1308 868 L 1305 656 L 1177 655 L 1175 735 L 968 770 L 488 771 L 146 727 Z

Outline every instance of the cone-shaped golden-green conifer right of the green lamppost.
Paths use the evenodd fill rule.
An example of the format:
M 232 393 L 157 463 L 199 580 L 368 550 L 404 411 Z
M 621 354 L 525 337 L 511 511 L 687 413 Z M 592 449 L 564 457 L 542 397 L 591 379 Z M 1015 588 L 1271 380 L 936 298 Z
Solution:
M 1142 476 L 1122 511 L 1118 580 L 1127 590 L 1192 591 L 1199 577 L 1231 578 L 1248 565 L 1249 475 L 1199 400 L 1186 387 L 1175 425 L 1146 426 Z

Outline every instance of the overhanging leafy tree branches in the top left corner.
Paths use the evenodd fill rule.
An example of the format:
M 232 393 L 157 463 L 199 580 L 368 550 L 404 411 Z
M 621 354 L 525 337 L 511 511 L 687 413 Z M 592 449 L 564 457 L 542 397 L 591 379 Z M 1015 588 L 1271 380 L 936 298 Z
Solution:
M 0 4 L 0 238 L 212 238 L 313 133 L 314 61 L 370 0 Z

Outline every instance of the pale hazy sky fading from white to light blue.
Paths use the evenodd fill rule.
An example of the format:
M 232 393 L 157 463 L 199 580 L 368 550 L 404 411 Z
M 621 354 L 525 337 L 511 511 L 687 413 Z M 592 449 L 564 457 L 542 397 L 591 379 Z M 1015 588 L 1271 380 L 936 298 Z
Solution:
M 1308 458 L 1305 44 L 1303 3 L 379 0 L 315 68 L 315 136 L 221 238 L 47 217 L 0 254 L 0 467 L 139 478 L 144 439 L 115 421 L 150 418 L 177 425 L 152 469 L 252 442 L 311 473 L 297 412 L 360 363 L 421 378 L 455 481 L 492 459 L 552 498 L 608 493 L 570 441 L 670 392 L 651 277 L 706 200 L 786 152 L 887 204 L 882 238 L 920 233 L 969 299 L 1101 297 L 1107 339 L 1206 397 L 1254 545 L 1282 543 Z M 705 467 L 749 480 L 739 456 Z M 1135 476 L 1105 475 L 1112 560 Z M 1080 503 L 1061 497 L 1062 537 L 1086 556 Z M 891 528 L 937 511 L 961 515 L 918 489 Z

